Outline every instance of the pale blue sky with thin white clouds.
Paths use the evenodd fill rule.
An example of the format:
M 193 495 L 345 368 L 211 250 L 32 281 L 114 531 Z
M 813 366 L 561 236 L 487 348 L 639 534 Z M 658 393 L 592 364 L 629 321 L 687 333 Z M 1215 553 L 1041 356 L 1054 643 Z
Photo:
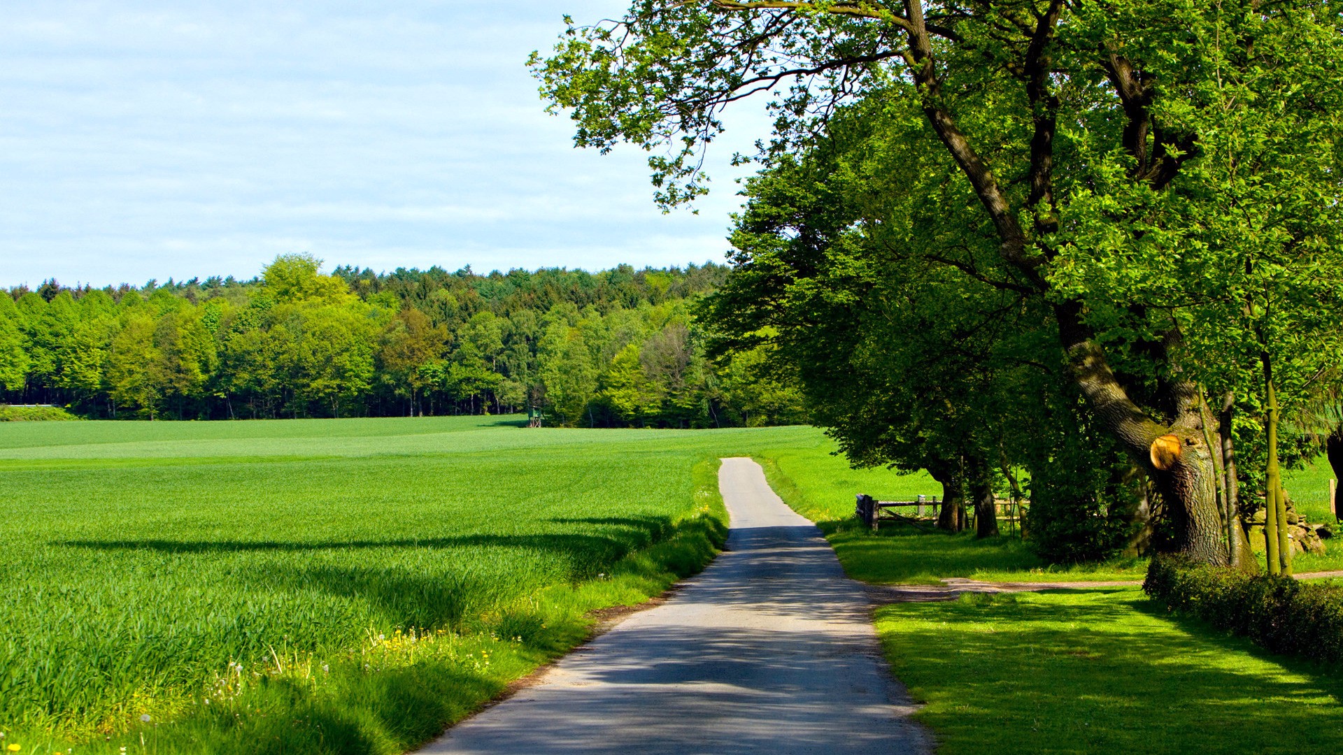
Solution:
M 0 286 L 326 267 L 721 262 L 729 113 L 698 215 L 653 204 L 646 153 L 575 149 L 526 70 L 561 16 L 619 0 L 8 4 L 0 24 Z

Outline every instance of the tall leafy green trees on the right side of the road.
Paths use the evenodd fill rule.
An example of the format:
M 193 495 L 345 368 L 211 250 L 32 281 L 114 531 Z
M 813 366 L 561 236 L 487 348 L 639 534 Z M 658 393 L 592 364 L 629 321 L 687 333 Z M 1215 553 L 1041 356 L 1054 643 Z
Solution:
M 579 145 L 650 150 L 663 207 L 705 191 L 723 110 L 772 98 L 706 322 L 719 353 L 794 369 L 850 459 L 929 470 L 984 536 L 1025 488 L 1064 560 L 1254 568 L 1241 517 L 1266 508 L 1289 567 L 1280 468 L 1343 439 L 1343 5 L 705 0 L 567 23 L 533 54 L 543 94 Z

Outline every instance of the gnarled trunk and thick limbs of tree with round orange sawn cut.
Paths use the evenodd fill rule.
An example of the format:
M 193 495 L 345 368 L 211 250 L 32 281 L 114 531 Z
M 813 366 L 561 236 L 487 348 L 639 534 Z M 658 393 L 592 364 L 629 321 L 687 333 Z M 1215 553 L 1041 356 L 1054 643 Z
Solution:
M 1027 238 L 1018 220 L 1025 215 L 1019 212 L 1022 207 L 1013 204 L 998 176 L 960 130 L 951 110 L 943 105 L 943 79 L 937 74 L 935 48 L 924 23 L 923 0 L 905 0 L 904 4 L 908 21 L 904 28 L 909 40 L 908 70 L 923 95 L 928 124 L 970 180 L 992 220 L 1003 261 L 1013 265 L 1031 289 L 1044 294 L 1049 290 L 1049 282 L 1041 266 L 1048 265 L 1053 251 L 1039 239 L 1057 230 L 1058 216 L 1053 192 L 1053 145 L 1060 101 L 1050 79 L 1050 55 L 1064 4 L 1054 0 L 1037 16 L 1030 44 L 1022 58 L 1022 78 L 1034 113 L 1027 176 L 1030 192 L 1022 207 L 1035 218 L 1034 238 Z M 1123 101 L 1128 118 L 1123 146 L 1135 159 L 1131 177 L 1154 188 L 1167 185 L 1179 172 L 1183 159 L 1171 156 L 1160 137 L 1156 138 L 1156 149 L 1148 149 L 1148 136 L 1154 130 L 1151 99 L 1155 81 L 1144 81 L 1138 67 L 1117 51 L 1109 51 L 1101 64 Z M 1193 149 L 1183 152 L 1186 156 L 1193 153 Z M 1115 379 L 1105 363 L 1104 351 L 1093 339 L 1091 328 L 1082 322 L 1081 302 L 1057 302 L 1054 313 L 1073 378 L 1086 396 L 1092 415 L 1123 443 L 1154 481 L 1174 521 L 1178 551 L 1203 563 L 1229 564 L 1232 559 L 1225 541 L 1222 512 L 1217 505 L 1215 451 L 1202 438 L 1202 420 L 1189 423 L 1185 416 L 1176 416 L 1170 426 L 1152 420 Z M 971 485 L 976 484 L 975 476 L 971 476 Z M 979 490 L 974 490 L 974 494 L 978 513 Z

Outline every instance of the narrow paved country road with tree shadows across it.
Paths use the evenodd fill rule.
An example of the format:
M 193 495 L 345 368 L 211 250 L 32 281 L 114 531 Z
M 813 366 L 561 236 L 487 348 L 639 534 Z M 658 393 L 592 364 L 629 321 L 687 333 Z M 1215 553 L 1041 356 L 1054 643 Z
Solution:
M 732 531 L 702 574 L 423 752 L 928 752 L 815 525 L 748 458 L 719 485 Z

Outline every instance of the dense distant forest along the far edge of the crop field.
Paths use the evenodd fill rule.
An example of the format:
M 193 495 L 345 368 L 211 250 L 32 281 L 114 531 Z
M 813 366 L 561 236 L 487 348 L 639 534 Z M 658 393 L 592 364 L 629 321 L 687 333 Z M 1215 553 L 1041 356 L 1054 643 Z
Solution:
M 282 255 L 251 281 L 47 281 L 0 296 L 0 403 L 90 418 L 498 414 L 577 426 L 803 420 L 766 353 L 712 363 L 693 308 L 728 269 L 479 275 Z

